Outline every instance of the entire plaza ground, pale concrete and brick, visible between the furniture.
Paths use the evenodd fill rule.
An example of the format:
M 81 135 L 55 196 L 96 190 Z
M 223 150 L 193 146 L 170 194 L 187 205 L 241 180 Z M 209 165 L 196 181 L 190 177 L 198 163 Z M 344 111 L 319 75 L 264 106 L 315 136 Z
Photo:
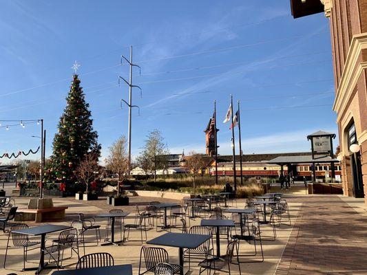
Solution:
M 277 228 L 276 241 L 264 241 L 264 263 L 242 263 L 242 274 L 367 274 L 366 262 L 366 233 L 367 214 L 363 201 L 350 197 L 337 195 L 287 195 L 291 210 L 292 226 L 282 225 Z M 147 201 L 174 201 L 151 197 L 133 197 L 131 206 L 122 207 L 124 211 L 131 212 L 127 222 L 134 218 L 135 205 L 143 207 Z M 17 198 L 19 208 L 23 208 L 27 198 Z M 69 224 L 76 219 L 77 212 L 86 215 L 107 212 L 112 209 L 105 201 L 81 202 L 73 199 L 54 199 L 55 205 L 67 205 L 66 220 L 58 224 Z M 244 200 L 238 200 L 238 208 L 244 206 Z M 104 236 L 105 220 L 99 219 L 102 237 Z M 191 220 L 191 225 L 196 225 L 200 219 Z M 54 222 L 53 222 L 54 223 Z M 30 225 L 34 225 L 30 223 Z M 264 236 L 271 233 L 267 226 L 263 227 Z M 173 230 L 179 232 L 179 230 Z M 149 230 L 147 239 L 164 232 Z M 57 234 L 50 235 L 52 237 Z M 117 236 L 117 234 L 116 234 Z M 134 237 L 138 236 L 136 232 Z M 0 249 L 4 251 L 7 234 L 0 235 Z M 222 241 L 222 250 L 225 241 Z M 165 248 L 169 252 L 172 262 L 178 261 L 176 248 Z M 242 245 L 240 252 L 251 251 L 251 245 Z M 94 246 L 86 249 L 87 253 L 109 252 L 114 256 L 116 264 L 132 263 L 134 272 L 138 272 L 140 242 L 125 243 L 123 246 Z M 222 251 L 224 252 L 224 251 Z M 30 262 L 37 263 L 37 252 L 30 252 Z M 74 268 L 76 259 L 67 260 L 66 268 Z M 3 263 L 3 253 L 0 256 Z M 7 260 L 7 269 L 0 274 L 33 274 L 33 272 L 19 272 L 21 269 L 21 252 L 10 249 Z M 193 269 L 196 274 L 198 270 Z M 234 269 L 233 274 L 238 270 Z M 52 274 L 45 270 L 42 274 Z

